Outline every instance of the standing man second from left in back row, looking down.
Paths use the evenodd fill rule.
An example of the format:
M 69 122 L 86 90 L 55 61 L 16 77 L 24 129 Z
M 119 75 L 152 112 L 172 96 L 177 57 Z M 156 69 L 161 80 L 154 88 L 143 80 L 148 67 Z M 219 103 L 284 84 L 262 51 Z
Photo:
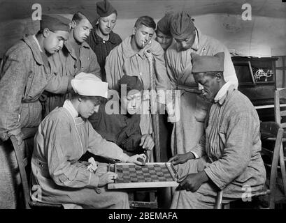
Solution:
M 76 13 L 71 20 L 69 40 L 64 43 L 62 50 L 54 54 L 50 63 L 54 64 L 55 73 L 59 76 L 75 77 L 80 72 L 86 72 L 101 78 L 101 70 L 97 57 L 85 40 L 92 31 L 92 15 Z M 45 92 L 45 116 L 55 107 L 64 105 L 68 95 L 59 95 Z

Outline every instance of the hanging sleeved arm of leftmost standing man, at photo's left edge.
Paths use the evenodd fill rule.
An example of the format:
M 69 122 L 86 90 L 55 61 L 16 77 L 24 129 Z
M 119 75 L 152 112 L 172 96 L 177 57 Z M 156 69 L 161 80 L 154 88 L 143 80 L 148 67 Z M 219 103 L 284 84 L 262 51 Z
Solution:
M 21 133 L 20 108 L 27 86 L 30 59 L 28 55 L 23 54 L 22 48 L 18 48 L 10 52 L 1 63 L 0 138 L 2 140 Z

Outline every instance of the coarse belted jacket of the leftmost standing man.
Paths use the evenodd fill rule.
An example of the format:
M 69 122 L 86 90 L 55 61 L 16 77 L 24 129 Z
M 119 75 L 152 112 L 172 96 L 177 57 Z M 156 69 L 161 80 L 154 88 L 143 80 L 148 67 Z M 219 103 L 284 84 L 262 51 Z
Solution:
M 10 47 L 0 65 L 0 137 L 8 139 L 20 128 L 41 122 L 38 98 L 45 89 L 65 93 L 71 89 L 70 78 L 52 75 L 54 69 L 43 58 L 33 36 L 22 38 Z

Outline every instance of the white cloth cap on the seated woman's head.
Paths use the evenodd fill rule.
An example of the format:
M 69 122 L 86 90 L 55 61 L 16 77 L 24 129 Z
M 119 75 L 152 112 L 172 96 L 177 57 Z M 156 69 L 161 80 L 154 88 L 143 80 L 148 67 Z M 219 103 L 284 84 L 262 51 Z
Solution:
M 107 98 L 108 83 L 92 74 L 83 74 L 71 80 L 73 91 L 83 96 L 101 96 Z

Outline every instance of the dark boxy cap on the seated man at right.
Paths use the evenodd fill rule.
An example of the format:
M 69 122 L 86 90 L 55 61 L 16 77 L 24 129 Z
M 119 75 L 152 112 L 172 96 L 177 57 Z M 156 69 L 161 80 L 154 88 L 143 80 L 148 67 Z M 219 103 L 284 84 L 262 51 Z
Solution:
M 199 56 L 192 53 L 192 72 L 220 72 L 224 71 L 224 52 L 214 56 Z

